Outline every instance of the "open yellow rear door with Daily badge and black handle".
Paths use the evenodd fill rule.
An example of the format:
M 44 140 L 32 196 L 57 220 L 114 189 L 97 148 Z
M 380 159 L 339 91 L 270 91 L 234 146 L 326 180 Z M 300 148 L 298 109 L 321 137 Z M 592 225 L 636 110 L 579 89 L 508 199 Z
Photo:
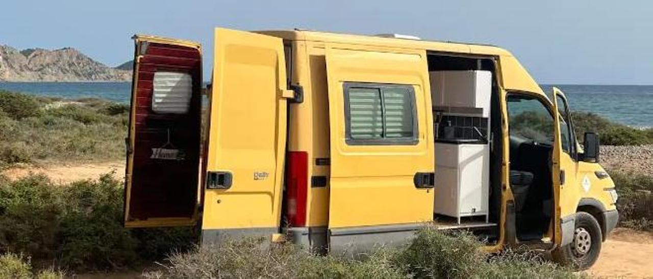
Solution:
M 278 232 L 286 82 L 281 38 L 215 29 L 202 242 Z

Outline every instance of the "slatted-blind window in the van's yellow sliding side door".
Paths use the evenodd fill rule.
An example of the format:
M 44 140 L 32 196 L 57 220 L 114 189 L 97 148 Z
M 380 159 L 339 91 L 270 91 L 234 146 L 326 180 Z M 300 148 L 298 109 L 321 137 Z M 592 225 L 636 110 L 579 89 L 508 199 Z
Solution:
M 417 143 L 415 90 L 411 85 L 345 83 L 347 143 Z

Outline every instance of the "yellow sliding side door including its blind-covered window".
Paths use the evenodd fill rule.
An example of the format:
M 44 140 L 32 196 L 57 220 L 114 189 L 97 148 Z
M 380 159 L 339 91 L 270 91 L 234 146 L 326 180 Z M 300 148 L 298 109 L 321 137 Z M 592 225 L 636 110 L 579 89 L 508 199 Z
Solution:
M 433 220 L 426 53 L 355 48 L 327 47 L 332 244 L 356 227 L 383 233 Z

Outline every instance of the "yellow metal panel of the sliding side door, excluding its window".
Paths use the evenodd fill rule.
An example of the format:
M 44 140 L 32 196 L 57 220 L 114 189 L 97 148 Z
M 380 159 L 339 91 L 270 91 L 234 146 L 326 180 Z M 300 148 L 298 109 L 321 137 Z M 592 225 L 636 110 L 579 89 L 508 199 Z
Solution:
M 413 182 L 415 173 L 435 168 L 426 51 L 328 44 L 326 60 L 331 153 L 328 227 L 432 220 L 433 191 L 416 188 Z M 347 143 L 345 82 L 411 86 L 419 129 L 417 142 Z

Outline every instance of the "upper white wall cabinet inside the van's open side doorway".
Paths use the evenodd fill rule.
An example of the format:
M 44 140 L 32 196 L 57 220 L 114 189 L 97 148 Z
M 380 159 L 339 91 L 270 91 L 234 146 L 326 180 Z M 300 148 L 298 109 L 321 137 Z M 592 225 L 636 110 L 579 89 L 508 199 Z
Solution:
M 483 117 L 490 115 L 492 72 L 451 70 L 429 74 L 434 107 L 481 108 Z

